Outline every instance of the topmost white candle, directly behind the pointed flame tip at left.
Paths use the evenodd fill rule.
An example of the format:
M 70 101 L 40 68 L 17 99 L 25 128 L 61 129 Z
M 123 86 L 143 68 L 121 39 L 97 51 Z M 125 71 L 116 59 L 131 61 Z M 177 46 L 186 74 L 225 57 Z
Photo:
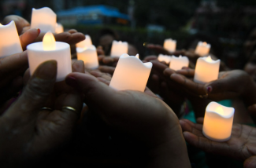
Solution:
M 31 28 L 39 28 L 41 32 L 55 33 L 57 15 L 48 7 L 32 9 Z

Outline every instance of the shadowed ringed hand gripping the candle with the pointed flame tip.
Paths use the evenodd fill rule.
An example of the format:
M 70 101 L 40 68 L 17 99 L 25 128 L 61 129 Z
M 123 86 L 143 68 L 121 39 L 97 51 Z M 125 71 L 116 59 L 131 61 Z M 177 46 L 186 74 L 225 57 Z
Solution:
M 61 93 L 53 111 L 41 110 L 54 90 L 57 62 L 49 60 L 36 69 L 18 100 L 0 118 L 2 167 L 36 166 L 67 143 L 80 116 L 81 97 L 75 90 Z

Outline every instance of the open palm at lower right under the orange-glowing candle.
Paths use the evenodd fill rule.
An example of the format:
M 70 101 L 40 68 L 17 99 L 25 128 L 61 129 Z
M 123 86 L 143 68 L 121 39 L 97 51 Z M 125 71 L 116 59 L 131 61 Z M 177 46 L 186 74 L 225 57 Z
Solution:
M 203 118 L 198 123 L 187 119 L 180 120 L 186 141 L 201 148 L 205 152 L 228 156 L 243 161 L 243 167 L 253 168 L 256 166 L 256 128 L 241 124 L 232 126 L 232 136 L 226 142 L 211 141 L 202 134 Z

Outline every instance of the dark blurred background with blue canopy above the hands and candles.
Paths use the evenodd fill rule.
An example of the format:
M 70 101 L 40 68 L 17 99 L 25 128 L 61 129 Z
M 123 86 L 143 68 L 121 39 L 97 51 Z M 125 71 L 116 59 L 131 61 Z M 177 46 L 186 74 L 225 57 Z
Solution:
M 30 21 L 32 8 L 45 6 L 65 29 L 91 35 L 95 46 L 102 35 L 111 34 L 135 46 L 140 57 L 152 54 L 143 45 L 163 45 L 165 38 L 176 39 L 177 49 L 202 40 L 229 68 L 243 68 L 245 43 L 256 44 L 256 35 L 250 35 L 256 26 L 253 0 L 1 0 L 0 20 L 15 14 Z

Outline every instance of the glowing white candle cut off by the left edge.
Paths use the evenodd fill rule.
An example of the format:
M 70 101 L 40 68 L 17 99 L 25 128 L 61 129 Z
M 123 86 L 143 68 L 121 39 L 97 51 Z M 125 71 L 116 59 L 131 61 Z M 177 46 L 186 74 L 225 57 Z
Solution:
M 7 25 L 0 24 L 0 57 L 10 56 L 22 51 L 15 22 L 11 21 Z

